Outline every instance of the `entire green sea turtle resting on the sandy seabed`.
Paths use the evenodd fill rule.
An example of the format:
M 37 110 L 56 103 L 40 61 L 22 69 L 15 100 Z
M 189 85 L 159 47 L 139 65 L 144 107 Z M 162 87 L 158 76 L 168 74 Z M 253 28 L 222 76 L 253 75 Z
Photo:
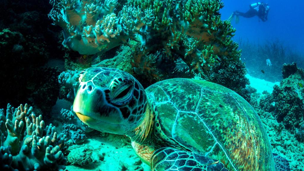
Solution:
M 177 78 L 143 89 L 127 72 L 104 67 L 82 71 L 79 83 L 80 120 L 130 137 L 154 171 L 290 170 L 272 154 L 252 106 L 221 85 Z

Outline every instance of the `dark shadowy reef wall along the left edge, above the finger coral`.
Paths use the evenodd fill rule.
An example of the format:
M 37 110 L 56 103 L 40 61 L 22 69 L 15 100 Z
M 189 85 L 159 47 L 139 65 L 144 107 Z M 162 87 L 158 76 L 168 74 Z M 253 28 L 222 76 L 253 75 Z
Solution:
M 49 59 L 64 55 L 61 29 L 47 16 L 52 7 L 48 1 L 11 0 L 0 1 L 0 8 L 0 87 L 9 92 L 2 93 L 0 106 L 27 101 L 46 118 L 58 97 L 52 76 L 59 73 L 45 67 Z

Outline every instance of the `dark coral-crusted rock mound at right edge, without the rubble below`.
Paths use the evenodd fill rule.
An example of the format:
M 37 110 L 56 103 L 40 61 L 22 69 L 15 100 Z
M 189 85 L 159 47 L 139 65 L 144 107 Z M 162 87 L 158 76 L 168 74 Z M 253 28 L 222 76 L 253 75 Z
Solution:
M 304 71 L 293 63 L 284 64 L 282 73 L 285 79 L 279 86 L 274 86 L 272 94 L 264 98 L 261 107 L 268 112 L 273 111 L 278 122 L 295 133 L 304 122 L 304 89 L 301 86 L 304 85 Z

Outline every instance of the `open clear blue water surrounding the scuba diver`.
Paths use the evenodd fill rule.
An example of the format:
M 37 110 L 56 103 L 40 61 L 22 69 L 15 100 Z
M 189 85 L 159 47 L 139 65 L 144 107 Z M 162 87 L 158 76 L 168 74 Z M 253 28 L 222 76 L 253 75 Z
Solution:
M 222 19 L 228 19 L 235 10 L 246 12 L 249 5 L 264 2 L 270 5 L 268 21 L 259 22 L 258 17 L 243 18 L 233 27 L 237 29 L 236 41 L 242 38 L 250 42 L 263 44 L 266 40 L 280 40 L 285 46 L 304 54 L 304 0 L 222 0 L 225 7 L 221 9 Z

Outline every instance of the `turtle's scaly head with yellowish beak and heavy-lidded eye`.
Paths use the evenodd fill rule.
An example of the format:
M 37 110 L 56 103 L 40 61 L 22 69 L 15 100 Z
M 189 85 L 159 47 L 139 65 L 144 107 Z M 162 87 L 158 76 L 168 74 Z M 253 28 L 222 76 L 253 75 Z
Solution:
M 128 134 L 145 117 L 147 95 L 129 73 L 113 68 L 88 68 L 79 76 L 73 110 L 90 127 Z

